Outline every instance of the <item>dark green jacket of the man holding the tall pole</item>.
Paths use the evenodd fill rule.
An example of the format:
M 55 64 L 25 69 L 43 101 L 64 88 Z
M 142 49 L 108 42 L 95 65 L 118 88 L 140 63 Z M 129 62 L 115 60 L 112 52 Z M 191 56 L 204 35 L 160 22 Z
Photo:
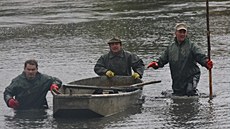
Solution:
M 158 60 L 159 67 L 169 63 L 174 92 L 184 92 L 194 76 L 200 76 L 197 62 L 206 67 L 207 56 L 188 38 L 181 44 L 174 39 Z

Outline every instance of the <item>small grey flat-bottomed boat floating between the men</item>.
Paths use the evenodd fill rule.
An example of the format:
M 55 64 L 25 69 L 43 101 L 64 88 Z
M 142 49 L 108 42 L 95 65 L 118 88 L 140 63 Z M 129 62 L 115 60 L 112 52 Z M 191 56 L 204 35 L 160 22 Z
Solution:
M 101 85 L 98 81 L 101 82 Z M 59 94 L 52 92 L 53 115 L 54 117 L 89 118 L 106 117 L 122 112 L 143 102 L 142 89 L 114 92 L 108 88 L 101 93 L 95 93 L 95 88 L 85 88 L 84 86 L 94 84 L 94 86 L 100 87 L 119 87 L 141 82 L 141 80 L 134 80 L 130 77 L 117 77 L 113 80 L 107 77 L 95 77 L 71 82 L 69 84 L 77 84 L 80 87 L 61 87 Z

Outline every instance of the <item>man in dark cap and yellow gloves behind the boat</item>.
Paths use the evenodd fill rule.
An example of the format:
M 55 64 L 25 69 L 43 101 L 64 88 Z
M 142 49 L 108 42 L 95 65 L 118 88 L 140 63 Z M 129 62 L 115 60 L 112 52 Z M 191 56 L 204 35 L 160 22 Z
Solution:
M 94 71 L 99 76 L 132 76 L 133 78 L 142 78 L 144 73 L 144 63 L 136 55 L 122 48 L 119 38 L 112 38 L 108 42 L 110 51 L 102 55 L 95 67 Z M 132 73 L 133 70 L 133 73 Z

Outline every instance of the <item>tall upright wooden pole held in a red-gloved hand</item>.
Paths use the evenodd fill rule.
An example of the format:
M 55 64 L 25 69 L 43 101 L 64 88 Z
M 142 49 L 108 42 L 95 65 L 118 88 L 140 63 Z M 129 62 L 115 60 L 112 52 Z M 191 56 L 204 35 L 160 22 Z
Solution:
M 210 45 L 210 31 L 209 31 L 209 1 L 206 0 L 206 19 L 207 19 L 207 41 L 208 41 L 208 59 L 211 60 L 211 45 Z M 212 97 L 212 70 L 209 69 L 209 98 Z

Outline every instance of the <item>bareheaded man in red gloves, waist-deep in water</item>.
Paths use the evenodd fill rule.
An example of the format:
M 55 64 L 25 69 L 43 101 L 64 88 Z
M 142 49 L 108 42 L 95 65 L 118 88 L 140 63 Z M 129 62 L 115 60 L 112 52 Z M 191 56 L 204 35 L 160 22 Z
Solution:
M 22 74 L 6 87 L 4 100 L 8 107 L 17 110 L 47 109 L 47 92 L 58 90 L 61 84 L 58 78 L 38 72 L 36 60 L 27 60 Z

